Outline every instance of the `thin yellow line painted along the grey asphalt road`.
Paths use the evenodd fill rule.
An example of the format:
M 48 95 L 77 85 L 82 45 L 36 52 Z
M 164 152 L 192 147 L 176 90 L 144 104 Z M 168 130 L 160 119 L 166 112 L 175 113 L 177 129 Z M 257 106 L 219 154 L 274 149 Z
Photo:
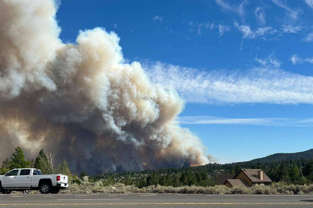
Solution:
M 0 204 L 0 205 L 118 205 L 118 204 L 313 204 L 313 203 L 90 203 L 90 204 Z

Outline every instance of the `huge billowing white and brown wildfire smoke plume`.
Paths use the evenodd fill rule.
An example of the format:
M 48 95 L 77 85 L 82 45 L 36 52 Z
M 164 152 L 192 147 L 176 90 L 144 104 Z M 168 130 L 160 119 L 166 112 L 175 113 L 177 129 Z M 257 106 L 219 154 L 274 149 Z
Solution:
M 74 172 L 203 165 L 200 140 L 175 121 L 183 100 L 125 64 L 119 37 L 58 38 L 53 1 L 1 1 L 1 160 L 19 145 L 65 157 Z

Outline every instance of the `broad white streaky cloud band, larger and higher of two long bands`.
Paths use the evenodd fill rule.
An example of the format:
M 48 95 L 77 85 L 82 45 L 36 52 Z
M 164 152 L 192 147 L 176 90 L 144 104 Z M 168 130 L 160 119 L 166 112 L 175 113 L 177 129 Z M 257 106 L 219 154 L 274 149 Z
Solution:
M 235 71 L 207 72 L 162 62 L 143 67 L 151 81 L 175 89 L 187 102 L 313 104 L 313 77 L 266 65 L 275 65 L 274 58 L 264 60 L 263 66 Z

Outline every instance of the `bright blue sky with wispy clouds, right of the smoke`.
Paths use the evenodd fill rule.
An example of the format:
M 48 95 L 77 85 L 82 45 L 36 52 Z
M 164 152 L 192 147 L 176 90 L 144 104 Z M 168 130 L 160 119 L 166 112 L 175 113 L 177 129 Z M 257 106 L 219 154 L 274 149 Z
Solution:
M 103 27 L 185 99 L 218 162 L 313 147 L 313 1 L 62 1 L 63 42 Z

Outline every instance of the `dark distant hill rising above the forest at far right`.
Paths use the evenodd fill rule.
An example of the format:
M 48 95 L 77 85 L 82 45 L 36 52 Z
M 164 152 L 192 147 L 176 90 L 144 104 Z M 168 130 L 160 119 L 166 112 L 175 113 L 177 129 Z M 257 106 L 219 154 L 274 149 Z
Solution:
M 249 162 L 258 163 L 258 162 L 280 162 L 283 160 L 299 160 L 302 157 L 305 159 L 313 159 L 313 148 L 303 151 L 303 152 L 295 152 L 295 153 L 275 153 L 266 157 L 253 159 Z

